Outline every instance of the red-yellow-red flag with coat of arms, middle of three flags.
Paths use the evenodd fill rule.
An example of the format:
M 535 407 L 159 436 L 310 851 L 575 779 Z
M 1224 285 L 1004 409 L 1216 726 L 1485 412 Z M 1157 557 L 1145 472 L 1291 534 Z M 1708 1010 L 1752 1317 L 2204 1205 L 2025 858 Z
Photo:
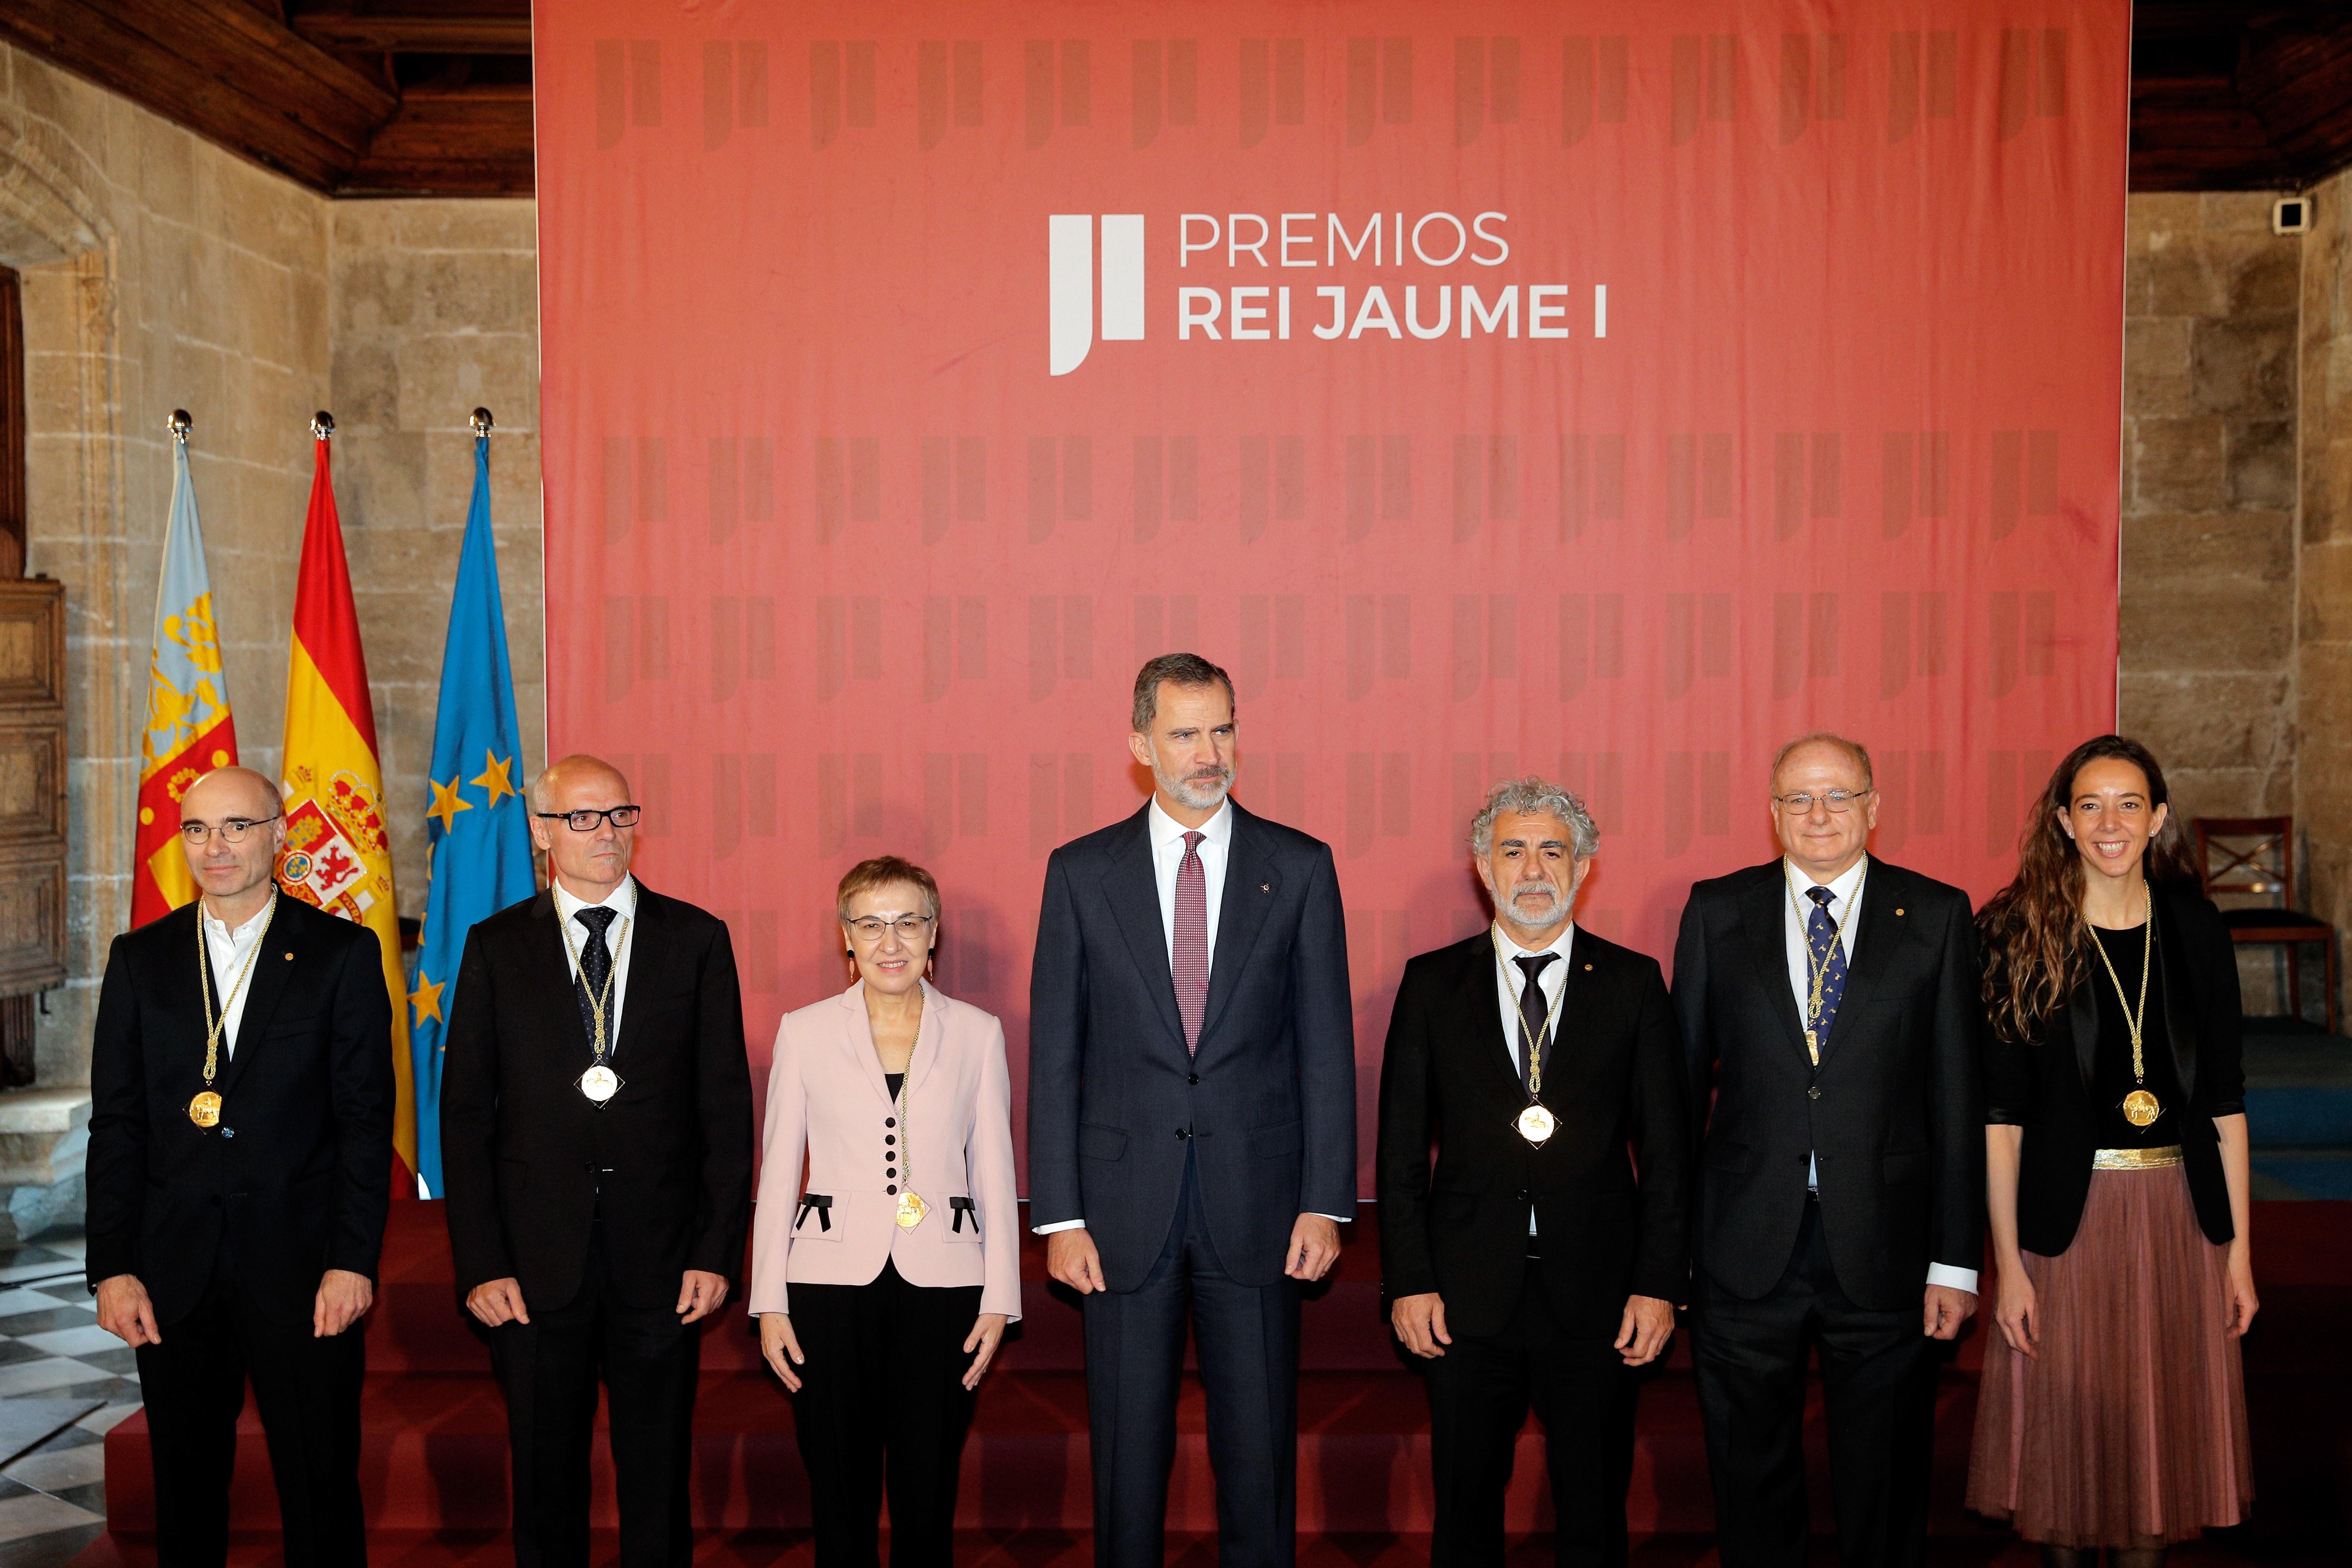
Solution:
M 310 425 L 315 433 L 322 425 Z M 416 1088 L 409 1072 L 409 1009 L 400 969 L 400 905 L 393 900 L 393 844 L 383 832 L 383 766 L 376 710 L 367 701 L 360 614 L 350 602 L 343 524 L 334 515 L 327 435 L 310 470 L 310 520 L 294 578 L 294 651 L 287 661 L 285 745 L 287 846 L 278 886 L 329 914 L 355 919 L 383 945 L 393 999 L 393 1150 L 407 1171 L 395 1192 L 414 1192 Z

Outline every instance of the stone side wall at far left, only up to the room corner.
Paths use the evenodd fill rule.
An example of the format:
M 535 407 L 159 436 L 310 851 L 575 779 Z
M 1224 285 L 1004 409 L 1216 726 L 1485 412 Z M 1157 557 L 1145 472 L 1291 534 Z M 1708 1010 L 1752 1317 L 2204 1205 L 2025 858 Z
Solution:
M 68 966 L 42 1084 L 89 1074 L 132 811 L 172 496 L 191 465 L 245 762 L 275 769 L 306 423 L 327 395 L 327 202 L 127 99 L 0 47 L 0 263 L 24 275 L 28 569 L 66 583 Z

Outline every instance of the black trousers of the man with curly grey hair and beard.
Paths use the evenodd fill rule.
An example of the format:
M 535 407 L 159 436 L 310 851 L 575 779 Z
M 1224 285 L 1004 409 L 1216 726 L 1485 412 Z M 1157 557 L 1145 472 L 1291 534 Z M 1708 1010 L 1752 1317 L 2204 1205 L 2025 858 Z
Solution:
M 1637 1385 L 1616 1345 L 1562 1333 L 1529 1262 L 1510 1324 L 1494 1335 L 1458 1333 L 1444 1352 L 1421 1363 L 1437 1483 L 1432 1568 L 1501 1566 L 1503 1493 L 1529 1406 L 1543 1422 L 1559 1516 L 1552 1559 L 1562 1568 L 1623 1568 Z

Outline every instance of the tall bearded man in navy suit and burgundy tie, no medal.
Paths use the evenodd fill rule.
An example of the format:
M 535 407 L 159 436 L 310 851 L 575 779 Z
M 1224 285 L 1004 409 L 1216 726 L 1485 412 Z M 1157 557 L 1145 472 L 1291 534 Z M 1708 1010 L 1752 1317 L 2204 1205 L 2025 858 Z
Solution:
M 1218 1561 L 1296 1552 L 1298 1284 L 1355 1218 L 1355 1018 L 1331 849 L 1242 811 L 1232 682 L 1136 675 L 1155 792 L 1054 851 L 1030 971 L 1030 1215 L 1084 1295 L 1094 1559 L 1160 1568 L 1185 1309 Z

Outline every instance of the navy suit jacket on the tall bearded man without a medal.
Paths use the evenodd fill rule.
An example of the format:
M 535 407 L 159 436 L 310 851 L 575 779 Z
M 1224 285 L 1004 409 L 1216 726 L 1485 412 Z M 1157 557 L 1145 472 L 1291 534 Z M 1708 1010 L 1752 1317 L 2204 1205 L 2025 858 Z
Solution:
M 1200 1159 L 1240 1284 L 1282 1276 L 1301 1213 L 1355 1215 L 1355 1016 L 1331 849 L 1232 804 L 1200 1053 L 1185 1056 L 1150 806 L 1054 851 L 1030 969 L 1030 1222 L 1084 1220 L 1143 1284 Z

